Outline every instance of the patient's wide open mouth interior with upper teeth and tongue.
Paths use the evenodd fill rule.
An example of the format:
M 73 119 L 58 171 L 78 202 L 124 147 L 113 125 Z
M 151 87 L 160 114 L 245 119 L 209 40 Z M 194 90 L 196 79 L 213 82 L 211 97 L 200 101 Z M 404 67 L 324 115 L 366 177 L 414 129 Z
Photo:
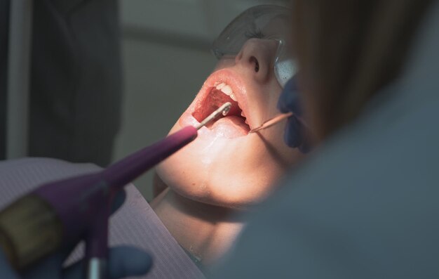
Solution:
M 208 117 L 227 102 L 231 103 L 229 113 L 225 117 L 222 115 L 217 117 L 217 119 L 208 123 L 206 127 L 227 138 L 248 135 L 250 126 L 248 125 L 247 117 L 245 117 L 243 110 L 239 106 L 235 93 L 224 82 L 215 84 L 215 86 L 208 89 L 207 96 L 205 96 L 204 100 L 198 102 L 192 116 L 198 122 L 201 122 L 205 117 Z

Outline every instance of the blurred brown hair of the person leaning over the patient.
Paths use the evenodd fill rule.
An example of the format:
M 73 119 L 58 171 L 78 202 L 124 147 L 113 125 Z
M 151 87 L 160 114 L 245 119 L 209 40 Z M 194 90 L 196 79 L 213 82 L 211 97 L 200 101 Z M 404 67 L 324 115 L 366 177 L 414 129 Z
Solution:
M 398 76 L 430 3 L 293 1 L 299 87 L 318 141 L 354 119 L 367 100 Z

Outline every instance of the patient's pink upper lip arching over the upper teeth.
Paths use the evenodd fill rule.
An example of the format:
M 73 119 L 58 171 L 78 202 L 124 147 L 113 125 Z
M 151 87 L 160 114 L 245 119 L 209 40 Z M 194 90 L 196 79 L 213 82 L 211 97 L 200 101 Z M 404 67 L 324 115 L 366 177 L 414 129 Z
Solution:
M 252 129 L 252 115 L 248 110 L 248 92 L 245 88 L 245 84 L 236 76 L 236 74 L 234 74 L 234 72 L 229 69 L 217 70 L 216 72 L 210 74 L 208 79 L 205 80 L 203 87 L 198 93 L 198 96 L 196 96 L 195 103 L 203 102 L 205 98 L 207 98 L 208 94 L 210 94 L 212 87 L 215 88 L 217 84 L 222 82 L 231 87 L 231 90 L 236 96 L 236 102 L 247 118 L 250 129 Z M 195 107 L 193 106 L 193 108 L 191 108 L 191 113 L 193 113 L 194 110 Z

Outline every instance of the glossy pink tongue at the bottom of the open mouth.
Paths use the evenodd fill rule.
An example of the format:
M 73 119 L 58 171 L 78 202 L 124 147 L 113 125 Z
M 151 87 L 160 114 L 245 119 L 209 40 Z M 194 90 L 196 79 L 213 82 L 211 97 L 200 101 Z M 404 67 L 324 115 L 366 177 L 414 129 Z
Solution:
M 236 138 L 238 136 L 246 136 L 248 134 L 248 125 L 245 124 L 241 117 L 228 116 L 218 119 L 210 128 L 219 136 L 225 138 Z

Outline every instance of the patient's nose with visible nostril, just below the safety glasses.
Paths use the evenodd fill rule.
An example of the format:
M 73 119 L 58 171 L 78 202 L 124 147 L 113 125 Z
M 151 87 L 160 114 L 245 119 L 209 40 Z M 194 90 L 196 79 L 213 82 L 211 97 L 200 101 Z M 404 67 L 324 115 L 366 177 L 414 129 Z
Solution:
M 268 82 L 274 77 L 273 63 L 278 43 L 269 39 L 249 39 L 235 58 L 236 65 L 241 65 L 252 74 L 257 82 Z

